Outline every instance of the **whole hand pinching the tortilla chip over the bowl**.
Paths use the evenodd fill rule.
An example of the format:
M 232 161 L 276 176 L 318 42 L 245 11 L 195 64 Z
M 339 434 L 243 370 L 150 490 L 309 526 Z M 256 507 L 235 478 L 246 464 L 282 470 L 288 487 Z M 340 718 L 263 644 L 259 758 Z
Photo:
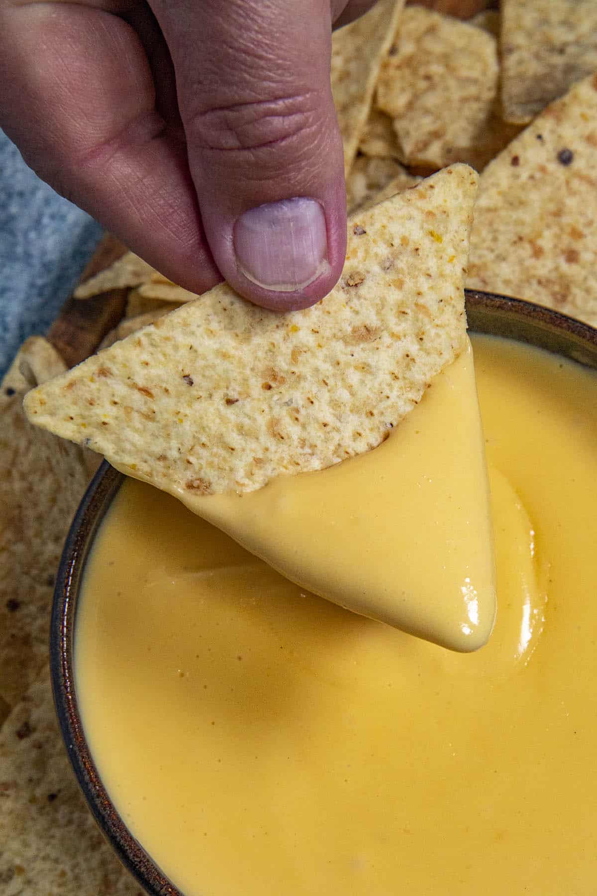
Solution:
M 345 255 L 332 22 L 372 4 L 0 0 L 0 125 L 183 287 L 309 306 Z

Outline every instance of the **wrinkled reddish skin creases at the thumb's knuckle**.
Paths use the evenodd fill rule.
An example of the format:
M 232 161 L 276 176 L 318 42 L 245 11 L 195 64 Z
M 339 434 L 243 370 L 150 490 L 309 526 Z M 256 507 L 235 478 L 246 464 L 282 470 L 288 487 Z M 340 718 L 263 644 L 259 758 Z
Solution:
M 200 108 L 187 121 L 186 132 L 201 151 L 264 157 L 282 147 L 298 149 L 320 125 L 320 98 L 313 91 Z

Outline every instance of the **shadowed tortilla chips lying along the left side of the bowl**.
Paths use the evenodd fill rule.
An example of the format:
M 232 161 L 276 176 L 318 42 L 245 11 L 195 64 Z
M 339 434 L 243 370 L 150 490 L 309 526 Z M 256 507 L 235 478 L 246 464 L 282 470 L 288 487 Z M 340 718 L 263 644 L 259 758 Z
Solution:
M 0 386 L 0 892 L 141 896 L 81 796 L 49 684 L 55 573 L 89 472 L 81 448 L 30 425 L 22 399 L 65 369 L 32 337 Z

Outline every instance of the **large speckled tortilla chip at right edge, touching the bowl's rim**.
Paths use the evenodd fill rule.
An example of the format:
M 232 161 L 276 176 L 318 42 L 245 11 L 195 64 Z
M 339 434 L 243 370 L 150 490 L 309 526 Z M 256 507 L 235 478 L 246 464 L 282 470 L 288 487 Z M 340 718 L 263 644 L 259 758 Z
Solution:
M 488 165 L 466 285 L 597 324 L 597 75 Z

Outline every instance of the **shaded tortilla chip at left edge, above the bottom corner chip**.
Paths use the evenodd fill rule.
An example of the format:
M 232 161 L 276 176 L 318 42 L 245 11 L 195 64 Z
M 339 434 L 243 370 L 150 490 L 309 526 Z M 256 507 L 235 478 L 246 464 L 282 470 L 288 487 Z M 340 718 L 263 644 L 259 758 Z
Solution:
M 39 382 L 66 369 L 44 341 L 23 345 L 0 403 L 0 695 L 10 705 L 47 661 L 55 573 L 88 481 L 81 449 L 30 426 L 22 409 L 23 362 Z

